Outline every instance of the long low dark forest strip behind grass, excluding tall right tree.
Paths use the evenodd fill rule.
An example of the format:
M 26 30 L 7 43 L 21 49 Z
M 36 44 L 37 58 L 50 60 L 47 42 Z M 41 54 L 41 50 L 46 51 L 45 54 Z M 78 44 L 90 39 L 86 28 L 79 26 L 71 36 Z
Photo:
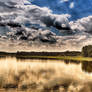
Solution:
M 22 56 L 78 56 L 81 55 L 79 51 L 66 52 L 17 52 L 17 55 Z

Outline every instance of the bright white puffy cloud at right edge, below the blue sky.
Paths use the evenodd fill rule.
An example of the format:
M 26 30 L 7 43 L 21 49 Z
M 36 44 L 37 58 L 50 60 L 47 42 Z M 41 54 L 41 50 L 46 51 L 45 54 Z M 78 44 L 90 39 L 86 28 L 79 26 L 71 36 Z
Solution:
M 84 17 L 75 22 L 70 22 L 72 29 L 92 33 L 92 16 Z

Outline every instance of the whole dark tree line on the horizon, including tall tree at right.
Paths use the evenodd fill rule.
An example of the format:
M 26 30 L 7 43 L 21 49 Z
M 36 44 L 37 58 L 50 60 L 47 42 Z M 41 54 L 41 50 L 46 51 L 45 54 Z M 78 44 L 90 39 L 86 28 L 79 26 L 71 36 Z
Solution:
M 65 52 L 0 52 L 0 56 L 84 56 L 92 57 L 92 45 L 84 46 L 82 51 L 65 51 Z

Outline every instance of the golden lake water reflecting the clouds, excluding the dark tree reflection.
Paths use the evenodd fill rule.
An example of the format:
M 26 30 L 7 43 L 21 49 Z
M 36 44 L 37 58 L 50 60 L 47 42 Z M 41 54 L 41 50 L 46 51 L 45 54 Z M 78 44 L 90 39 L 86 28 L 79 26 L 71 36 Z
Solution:
M 92 92 L 92 74 L 83 72 L 81 64 L 29 61 L 1 60 L 0 88 L 29 92 Z

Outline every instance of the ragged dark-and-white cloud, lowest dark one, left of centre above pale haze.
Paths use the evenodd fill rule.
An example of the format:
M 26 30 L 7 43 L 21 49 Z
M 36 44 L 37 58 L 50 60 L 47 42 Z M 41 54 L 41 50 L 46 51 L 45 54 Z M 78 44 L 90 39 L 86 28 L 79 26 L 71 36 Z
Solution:
M 26 41 L 40 41 L 44 43 L 56 43 L 55 35 L 49 30 L 26 30 L 24 28 L 18 28 L 15 32 L 9 32 L 7 34 L 11 39 L 26 40 Z

